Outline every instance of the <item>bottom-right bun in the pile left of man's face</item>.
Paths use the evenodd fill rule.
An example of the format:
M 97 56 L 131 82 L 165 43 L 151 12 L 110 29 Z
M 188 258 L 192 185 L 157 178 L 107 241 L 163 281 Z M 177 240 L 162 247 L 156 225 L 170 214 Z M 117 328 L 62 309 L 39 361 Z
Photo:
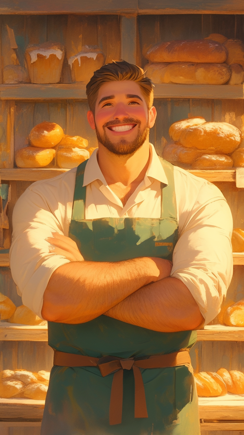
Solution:
M 59 167 L 72 169 L 90 157 L 87 150 L 80 148 L 58 147 L 56 151 L 56 162 Z

